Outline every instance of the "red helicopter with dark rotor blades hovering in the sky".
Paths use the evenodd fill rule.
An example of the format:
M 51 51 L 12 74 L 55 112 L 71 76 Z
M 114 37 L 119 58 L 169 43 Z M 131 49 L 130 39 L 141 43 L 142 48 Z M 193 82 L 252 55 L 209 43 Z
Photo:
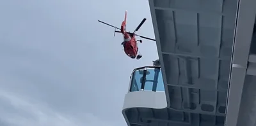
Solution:
M 126 18 L 127 18 L 127 11 L 125 11 L 125 17 L 124 17 L 124 21 L 121 24 L 121 29 L 118 27 L 115 27 L 113 25 L 107 24 L 106 22 L 102 22 L 100 20 L 98 20 L 100 23 L 102 24 L 106 24 L 109 25 L 110 27 L 114 27 L 115 31 L 114 31 L 114 36 L 115 33 L 122 33 L 124 36 L 124 41 L 121 43 L 121 45 L 124 46 L 124 52 L 125 54 L 130 57 L 131 59 L 141 59 L 142 55 L 138 54 L 138 41 L 140 43 L 142 43 L 142 40 L 136 40 L 135 36 L 139 36 L 140 38 L 143 39 L 149 39 L 152 41 L 156 41 L 156 39 L 152 39 L 152 38 L 147 38 L 144 36 L 140 36 L 138 34 L 136 34 L 136 32 L 140 29 L 141 25 L 143 25 L 143 23 L 147 20 L 146 18 L 143 18 L 143 20 L 140 22 L 140 24 L 138 25 L 138 27 L 136 27 L 136 29 L 134 30 L 134 32 L 127 32 L 126 31 Z M 120 31 L 116 31 L 116 29 L 120 30 Z

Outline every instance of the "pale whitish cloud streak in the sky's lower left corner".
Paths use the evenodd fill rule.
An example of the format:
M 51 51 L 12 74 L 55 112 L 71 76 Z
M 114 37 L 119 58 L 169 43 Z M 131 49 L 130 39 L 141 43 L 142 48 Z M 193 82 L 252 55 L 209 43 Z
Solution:
M 51 108 L 42 106 L 42 102 L 35 99 L 34 102 L 19 97 L 15 94 L 1 91 L 1 101 L 4 101 L 6 107 L 1 108 L 0 118 L 4 120 L 4 125 L 49 125 L 49 126 L 66 126 L 66 125 L 103 125 L 96 116 L 85 113 L 86 120 L 76 120 L 70 116 L 61 115 Z M 107 124 L 108 125 L 108 124 Z

